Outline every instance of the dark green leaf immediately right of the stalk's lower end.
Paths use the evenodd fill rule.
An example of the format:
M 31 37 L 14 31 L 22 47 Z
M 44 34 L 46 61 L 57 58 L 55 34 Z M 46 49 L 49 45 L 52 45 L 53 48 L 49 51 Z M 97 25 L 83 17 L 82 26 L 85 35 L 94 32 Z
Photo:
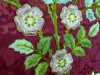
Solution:
M 75 39 L 72 34 L 65 34 L 64 41 L 65 41 L 65 47 L 72 49 L 75 47 Z

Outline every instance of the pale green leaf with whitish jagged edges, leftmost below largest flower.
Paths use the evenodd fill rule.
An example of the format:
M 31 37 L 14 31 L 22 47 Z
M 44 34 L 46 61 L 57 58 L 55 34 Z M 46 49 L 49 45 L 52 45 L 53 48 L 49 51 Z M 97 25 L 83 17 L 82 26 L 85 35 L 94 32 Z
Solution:
M 9 48 L 13 48 L 16 52 L 20 54 L 30 54 L 33 52 L 33 45 L 31 42 L 25 39 L 18 39 L 14 43 L 12 43 Z

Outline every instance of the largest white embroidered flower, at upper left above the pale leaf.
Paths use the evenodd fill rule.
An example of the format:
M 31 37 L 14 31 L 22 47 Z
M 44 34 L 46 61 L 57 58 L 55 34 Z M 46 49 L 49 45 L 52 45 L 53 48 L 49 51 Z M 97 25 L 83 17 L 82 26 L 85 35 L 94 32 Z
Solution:
M 43 13 L 38 7 L 31 7 L 28 4 L 17 10 L 15 23 L 17 29 L 27 35 L 35 35 L 41 30 L 44 24 Z

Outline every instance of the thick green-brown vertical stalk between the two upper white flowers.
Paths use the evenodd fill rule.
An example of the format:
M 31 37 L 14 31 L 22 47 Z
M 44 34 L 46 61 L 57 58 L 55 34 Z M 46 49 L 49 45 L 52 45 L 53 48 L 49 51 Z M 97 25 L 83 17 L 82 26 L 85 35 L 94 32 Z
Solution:
M 60 46 L 59 46 L 58 23 L 57 23 L 58 16 L 57 16 L 56 3 L 48 6 L 48 12 L 49 12 L 50 17 L 51 17 L 52 22 L 53 22 L 53 27 L 54 27 L 54 32 L 55 32 L 54 38 L 56 41 L 56 47 L 59 50 Z

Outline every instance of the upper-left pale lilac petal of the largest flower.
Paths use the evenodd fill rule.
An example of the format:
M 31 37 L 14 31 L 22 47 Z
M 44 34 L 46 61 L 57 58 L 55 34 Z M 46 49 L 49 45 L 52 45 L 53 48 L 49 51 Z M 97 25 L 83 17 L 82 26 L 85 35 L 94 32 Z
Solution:
M 29 4 L 24 4 L 21 8 L 17 10 L 17 15 L 24 15 L 27 11 L 31 9 Z

